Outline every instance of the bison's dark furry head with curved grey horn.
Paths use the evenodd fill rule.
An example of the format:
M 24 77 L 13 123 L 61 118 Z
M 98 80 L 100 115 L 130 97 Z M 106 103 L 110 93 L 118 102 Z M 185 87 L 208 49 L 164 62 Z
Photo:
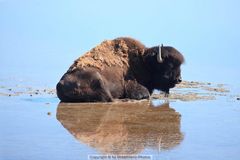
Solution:
M 147 65 L 152 73 L 152 87 L 169 93 L 177 83 L 182 81 L 180 66 L 183 55 L 173 47 L 157 46 L 146 50 Z

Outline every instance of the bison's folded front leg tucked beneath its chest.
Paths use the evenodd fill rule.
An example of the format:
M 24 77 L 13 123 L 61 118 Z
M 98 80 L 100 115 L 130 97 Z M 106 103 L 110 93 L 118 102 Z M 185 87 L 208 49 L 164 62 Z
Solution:
M 125 97 L 130 99 L 146 99 L 150 97 L 148 89 L 136 81 L 127 81 L 125 85 Z

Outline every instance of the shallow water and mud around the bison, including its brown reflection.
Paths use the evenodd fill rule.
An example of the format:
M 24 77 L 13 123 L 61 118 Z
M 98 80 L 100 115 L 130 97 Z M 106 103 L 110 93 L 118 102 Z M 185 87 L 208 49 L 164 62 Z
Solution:
M 240 158 L 240 92 L 230 85 L 184 81 L 168 98 L 71 104 L 17 84 L 0 83 L 1 160 Z

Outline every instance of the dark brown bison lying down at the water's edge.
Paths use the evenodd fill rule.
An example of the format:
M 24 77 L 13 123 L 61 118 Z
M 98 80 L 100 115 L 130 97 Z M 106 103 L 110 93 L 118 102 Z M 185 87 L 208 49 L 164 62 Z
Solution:
M 166 94 L 181 82 L 182 54 L 173 47 L 145 47 L 132 38 L 107 40 L 77 60 L 57 84 L 63 102 L 110 102 Z

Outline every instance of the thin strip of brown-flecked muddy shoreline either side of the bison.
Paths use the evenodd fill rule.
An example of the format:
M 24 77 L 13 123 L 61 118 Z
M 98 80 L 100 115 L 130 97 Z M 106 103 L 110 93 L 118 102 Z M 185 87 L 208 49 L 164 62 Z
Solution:
M 240 100 L 240 95 L 231 95 L 230 89 L 226 84 L 214 84 L 211 82 L 198 82 L 198 81 L 183 81 L 177 84 L 176 87 L 170 90 L 169 97 L 164 97 L 164 93 L 158 92 L 151 95 L 151 99 L 156 100 L 170 100 L 170 101 L 196 101 L 196 100 L 215 100 L 217 97 L 230 96 L 236 100 Z M 1 85 L 0 96 L 56 96 L 54 88 L 37 88 L 31 86 L 15 85 L 13 87 Z M 120 100 L 136 101 L 136 100 Z

